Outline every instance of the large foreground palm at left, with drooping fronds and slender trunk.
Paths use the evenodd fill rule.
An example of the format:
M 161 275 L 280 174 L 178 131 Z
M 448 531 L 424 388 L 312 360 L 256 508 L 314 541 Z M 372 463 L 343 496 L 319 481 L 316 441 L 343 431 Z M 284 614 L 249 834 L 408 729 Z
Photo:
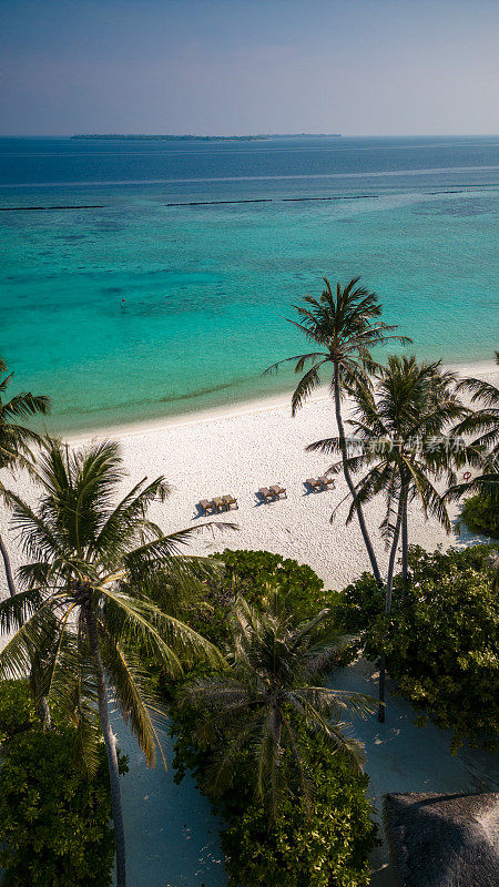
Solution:
M 165 536 L 146 518 L 150 504 L 164 501 L 169 493 L 163 477 L 149 483 L 144 478 L 115 504 L 124 477 L 118 445 L 102 442 L 71 451 L 57 440 L 47 441 L 37 477 L 41 490 L 37 509 L 6 492 L 30 562 L 19 570 L 24 591 L 0 603 L 0 629 L 3 633 L 17 629 L 0 652 L 0 677 L 24 675 L 35 650 L 51 660 L 43 687 L 49 703 L 68 710 L 71 700 L 88 733 L 93 702 L 108 753 L 116 884 L 125 887 L 121 789 L 106 682 L 151 764 L 156 741 L 153 701 L 138 649 L 146 644 L 155 650 L 172 675 L 182 673 L 180 651 L 190 660 L 203 654 L 212 663 L 220 663 L 221 655 L 192 629 L 163 613 L 143 591 L 134 594 L 134 581 L 143 588 L 157 563 L 184 580 L 196 563 L 179 555 L 192 530 Z

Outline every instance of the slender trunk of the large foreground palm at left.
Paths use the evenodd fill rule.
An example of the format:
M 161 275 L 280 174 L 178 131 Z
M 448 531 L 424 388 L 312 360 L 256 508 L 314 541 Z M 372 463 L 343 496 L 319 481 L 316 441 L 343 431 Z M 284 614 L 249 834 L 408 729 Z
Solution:
M 123 826 L 123 809 L 121 804 L 120 773 L 118 768 L 118 754 L 114 735 L 109 718 L 108 693 L 105 690 L 104 666 L 102 664 L 101 648 L 95 613 L 91 605 L 85 608 L 85 621 L 89 633 L 90 649 L 95 661 L 98 675 L 99 717 L 105 751 L 108 753 L 109 781 L 111 786 L 111 807 L 114 825 L 114 842 L 116 847 L 116 887 L 126 887 L 126 858 Z

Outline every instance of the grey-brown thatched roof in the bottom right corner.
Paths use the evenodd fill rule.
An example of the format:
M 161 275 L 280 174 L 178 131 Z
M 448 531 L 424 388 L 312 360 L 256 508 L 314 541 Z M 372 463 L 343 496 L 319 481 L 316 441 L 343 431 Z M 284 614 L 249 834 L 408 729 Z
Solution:
M 499 794 L 385 795 L 400 887 L 498 887 Z

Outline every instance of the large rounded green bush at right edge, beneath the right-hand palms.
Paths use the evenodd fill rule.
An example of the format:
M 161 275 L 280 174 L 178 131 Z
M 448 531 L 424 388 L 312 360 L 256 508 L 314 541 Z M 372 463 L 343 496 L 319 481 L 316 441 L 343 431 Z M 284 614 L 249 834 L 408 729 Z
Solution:
M 471 546 L 430 554 L 415 547 L 410 582 L 397 578 L 389 618 L 365 577 L 346 589 L 342 604 L 345 621 L 365 632 L 366 655 L 375 657 L 385 649 L 399 692 L 424 713 L 419 722 L 431 717 L 452 730 L 452 751 L 465 742 L 495 748 L 499 737 L 499 600 L 488 563 L 492 550 Z

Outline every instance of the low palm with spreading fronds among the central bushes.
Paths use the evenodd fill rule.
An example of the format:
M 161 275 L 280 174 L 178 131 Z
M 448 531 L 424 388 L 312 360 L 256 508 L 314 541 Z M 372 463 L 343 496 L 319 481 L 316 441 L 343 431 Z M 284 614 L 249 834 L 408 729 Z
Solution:
M 272 815 L 283 789 L 291 788 L 286 755 L 309 806 L 312 786 L 301 750 L 304 731 L 320 732 L 359 768 L 361 746 L 345 736 L 337 718 L 346 708 L 365 715 L 373 711 L 373 700 L 323 684 L 322 675 L 347 643 L 327 628 L 328 622 L 327 609 L 297 621 L 277 595 L 263 613 L 244 599 L 235 603 L 227 654 L 231 671 L 193 681 L 183 696 L 183 704 L 198 713 L 197 741 L 218 738 L 223 745 L 206 778 L 206 788 L 215 796 L 231 786 L 234 763 L 246 748 L 254 763 L 255 794 L 268 802 Z

